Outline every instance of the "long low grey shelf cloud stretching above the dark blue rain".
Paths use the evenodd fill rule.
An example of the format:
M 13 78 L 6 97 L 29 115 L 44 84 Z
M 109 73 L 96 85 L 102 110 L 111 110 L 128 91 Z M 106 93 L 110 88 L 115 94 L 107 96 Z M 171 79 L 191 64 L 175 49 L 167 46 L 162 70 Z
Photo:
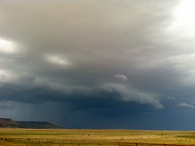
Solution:
M 28 85 L 28 86 L 27 86 Z M 48 85 L 37 86 L 26 84 L 10 85 L 2 84 L 0 93 L 4 95 L 3 100 L 13 100 L 24 103 L 42 103 L 46 101 L 61 101 L 77 103 L 77 100 L 87 100 L 93 97 L 93 100 L 109 98 L 121 102 L 136 102 L 138 104 L 148 104 L 156 109 L 164 107 L 159 102 L 156 95 L 145 93 L 135 89 L 127 88 L 120 84 L 108 84 L 98 88 L 79 87 L 79 86 L 58 86 Z M 90 104 L 90 101 L 88 102 Z M 76 104 L 75 104 L 76 105 Z

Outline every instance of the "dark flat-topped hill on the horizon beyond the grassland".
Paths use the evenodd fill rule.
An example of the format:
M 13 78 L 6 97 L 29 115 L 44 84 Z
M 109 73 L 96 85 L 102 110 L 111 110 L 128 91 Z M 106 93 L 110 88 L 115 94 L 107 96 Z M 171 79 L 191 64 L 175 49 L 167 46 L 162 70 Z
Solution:
M 62 129 L 63 127 L 50 122 L 13 121 L 12 119 L 0 118 L 0 128 Z

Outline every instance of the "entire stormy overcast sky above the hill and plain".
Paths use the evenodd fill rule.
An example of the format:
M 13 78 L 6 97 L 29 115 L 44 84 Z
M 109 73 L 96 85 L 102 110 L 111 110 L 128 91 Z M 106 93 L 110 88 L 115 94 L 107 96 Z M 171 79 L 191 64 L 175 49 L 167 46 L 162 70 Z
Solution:
M 0 0 L 0 117 L 195 130 L 194 0 Z

